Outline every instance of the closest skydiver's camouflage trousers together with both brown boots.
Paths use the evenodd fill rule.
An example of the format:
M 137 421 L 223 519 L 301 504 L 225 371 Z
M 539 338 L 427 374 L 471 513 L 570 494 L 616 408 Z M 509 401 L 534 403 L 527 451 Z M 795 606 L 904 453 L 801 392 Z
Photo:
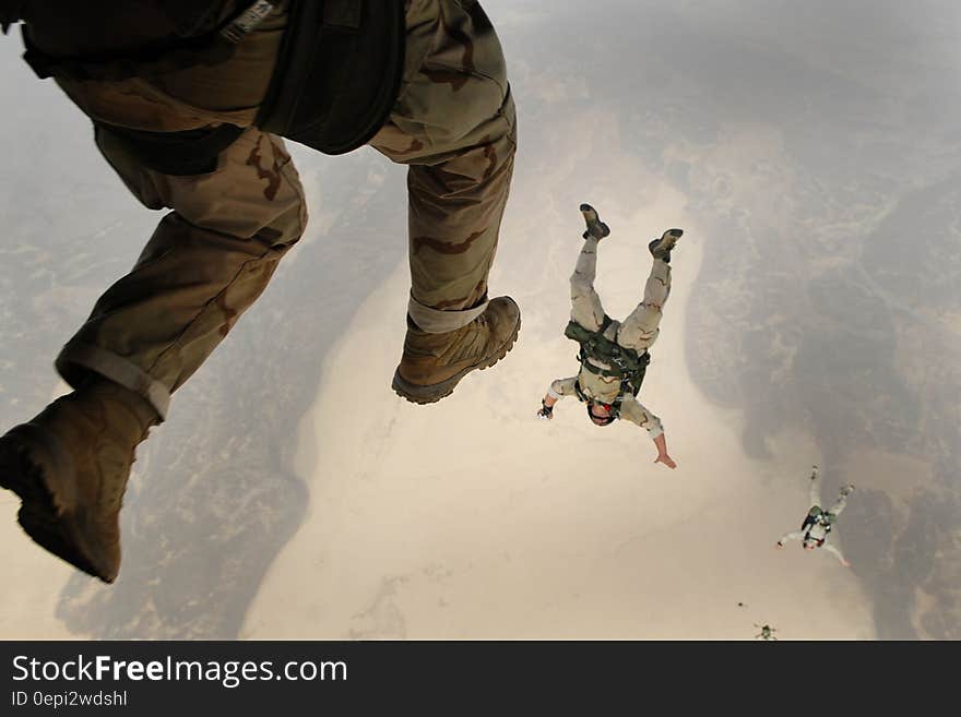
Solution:
M 166 7 L 50 0 L 24 3 L 22 15 L 46 56 L 109 57 L 178 34 Z M 220 20 L 238 8 L 225 0 Z M 479 4 L 408 0 L 405 12 L 399 96 L 370 144 L 410 166 L 413 288 L 394 389 L 431 403 L 502 357 L 520 327 L 511 299 L 487 301 L 515 121 L 500 45 Z M 123 131 L 241 128 L 211 171 L 189 176 L 145 166 L 123 131 L 98 128 L 97 145 L 130 191 L 150 208 L 171 211 L 58 356 L 75 391 L 0 438 L 0 486 L 21 497 L 21 525 L 106 582 L 120 567 L 119 511 L 138 443 L 266 288 L 307 224 L 283 140 L 253 124 L 288 16 L 288 3 L 276 3 L 223 62 L 171 67 L 162 57 L 138 63 L 133 77 L 55 75 L 92 119 Z

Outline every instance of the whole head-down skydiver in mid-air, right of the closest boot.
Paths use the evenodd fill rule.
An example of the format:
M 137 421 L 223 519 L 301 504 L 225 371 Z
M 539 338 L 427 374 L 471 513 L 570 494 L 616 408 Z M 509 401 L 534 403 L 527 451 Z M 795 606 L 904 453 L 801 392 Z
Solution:
M 588 229 L 570 278 L 571 320 L 563 332 L 580 345 L 581 369 L 578 375 L 550 384 L 537 415 L 550 419 L 558 401 L 576 396 L 586 404 L 588 417 L 595 426 L 609 426 L 624 418 L 646 429 L 657 446 L 654 463 L 675 468 L 677 464 L 667 454 L 661 420 L 636 396 L 651 360 L 648 349 L 657 339 L 664 304 L 671 295 L 671 250 L 684 231 L 668 229 L 648 244 L 654 265 L 644 286 L 644 298 L 621 323 L 604 312 L 601 297 L 594 290 L 597 244 L 610 229 L 590 204 L 581 204 L 581 214 Z

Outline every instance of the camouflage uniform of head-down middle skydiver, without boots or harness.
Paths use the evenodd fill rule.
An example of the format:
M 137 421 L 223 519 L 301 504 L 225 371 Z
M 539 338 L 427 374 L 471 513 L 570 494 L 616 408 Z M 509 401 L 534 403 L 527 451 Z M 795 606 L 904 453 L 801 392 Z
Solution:
M 570 279 L 571 320 L 589 331 L 598 331 L 605 315 L 604 307 L 601 304 L 601 297 L 594 288 L 598 243 L 597 239 L 590 236 L 584 239 L 584 246 L 578 256 L 578 263 Z M 671 265 L 661 259 L 655 259 L 651 267 L 651 274 L 648 276 L 648 282 L 644 285 L 643 300 L 622 322 L 612 321 L 604 332 L 605 337 L 625 348 L 631 348 L 638 351 L 638 354 L 643 354 L 657 340 L 663 308 L 669 295 Z M 601 361 L 588 360 L 593 361 L 600 368 L 610 368 Z M 581 391 L 586 397 L 601 403 L 614 403 L 618 395 L 620 395 L 620 379 L 603 377 L 583 367 L 581 367 L 577 377 L 554 381 L 547 395 L 555 399 L 562 398 L 563 396 L 577 396 L 576 383 L 580 384 Z M 664 432 L 661 419 L 630 395 L 621 397 L 620 418 L 646 429 L 648 434 L 652 439 L 657 438 Z

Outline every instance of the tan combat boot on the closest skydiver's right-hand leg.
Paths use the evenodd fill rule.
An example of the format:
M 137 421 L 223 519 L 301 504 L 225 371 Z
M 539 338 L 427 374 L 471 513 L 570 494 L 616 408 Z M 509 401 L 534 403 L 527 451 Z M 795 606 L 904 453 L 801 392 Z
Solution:
M 428 334 L 408 320 L 393 390 L 415 404 L 440 401 L 452 394 L 467 373 L 507 356 L 520 328 L 521 311 L 506 296 L 491 299 L 484 313 L 466 326 L 443 334 Z

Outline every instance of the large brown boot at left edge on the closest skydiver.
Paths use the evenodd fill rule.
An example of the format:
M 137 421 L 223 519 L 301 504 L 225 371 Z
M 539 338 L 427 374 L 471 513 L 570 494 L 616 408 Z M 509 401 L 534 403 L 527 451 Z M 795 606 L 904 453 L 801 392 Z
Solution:
M 137 445 L 159 422 L 141 396 L 92 378 L 0 438 L 0 486 L 40 546 L 112 583 L 120 570 L 120 506 Z

